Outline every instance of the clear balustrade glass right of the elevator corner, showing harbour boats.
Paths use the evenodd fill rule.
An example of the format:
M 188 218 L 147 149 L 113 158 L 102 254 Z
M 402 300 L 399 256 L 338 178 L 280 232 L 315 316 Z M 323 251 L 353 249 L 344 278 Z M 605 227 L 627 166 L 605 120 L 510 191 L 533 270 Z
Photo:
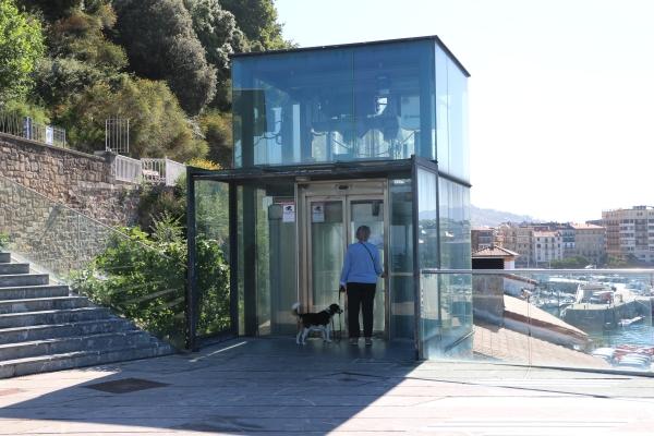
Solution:
M 475 359 L 652 372 L 652 270 L 480 271 L 473 283 Z

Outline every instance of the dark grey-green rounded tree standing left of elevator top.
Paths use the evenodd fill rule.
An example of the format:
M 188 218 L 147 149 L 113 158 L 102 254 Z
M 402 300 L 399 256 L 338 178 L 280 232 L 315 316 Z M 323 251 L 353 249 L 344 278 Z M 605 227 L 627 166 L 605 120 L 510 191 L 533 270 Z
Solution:
M 189 114 L 216 94 L 216 71 L 182 0 L 116 0 L 118 40 L 138 75 L 168 82 Z

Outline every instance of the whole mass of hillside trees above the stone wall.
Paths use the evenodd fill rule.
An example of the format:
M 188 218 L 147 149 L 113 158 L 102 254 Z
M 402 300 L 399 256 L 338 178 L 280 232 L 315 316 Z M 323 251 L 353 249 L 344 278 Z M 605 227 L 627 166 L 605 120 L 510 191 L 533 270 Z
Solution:
M 84 152 L 101 149 L 105 120 L 119 117 L 132 157 L 229 166 L 230 55 L 290 46 L 270 0 L 0 4 L 0 110 L 31 108 Z

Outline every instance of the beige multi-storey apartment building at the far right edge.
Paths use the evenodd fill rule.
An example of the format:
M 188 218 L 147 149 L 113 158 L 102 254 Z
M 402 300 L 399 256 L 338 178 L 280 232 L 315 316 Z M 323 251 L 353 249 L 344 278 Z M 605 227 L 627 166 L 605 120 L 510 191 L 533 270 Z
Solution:
M 607 256 L 654 263 L 654 207 L 604 210 L 602 221 Z

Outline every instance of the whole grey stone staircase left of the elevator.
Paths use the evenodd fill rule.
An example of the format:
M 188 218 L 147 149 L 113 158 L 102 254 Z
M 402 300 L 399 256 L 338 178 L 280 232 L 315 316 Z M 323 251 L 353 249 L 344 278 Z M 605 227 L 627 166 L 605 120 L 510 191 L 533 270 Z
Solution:
M 172 352 L 129 320 L 0 252 L 0 378 Z

